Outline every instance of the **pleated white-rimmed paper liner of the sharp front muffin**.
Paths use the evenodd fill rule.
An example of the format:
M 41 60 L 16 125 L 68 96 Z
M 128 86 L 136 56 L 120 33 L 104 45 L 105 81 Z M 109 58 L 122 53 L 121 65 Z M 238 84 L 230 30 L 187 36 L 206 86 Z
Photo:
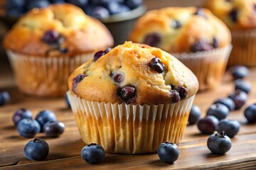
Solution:
M 106 152 L 156 152 L 162 142 L 178 144 L 195 96 L 177 103 L 143 106 L 87 101 L 68 91 L 82 140 Z

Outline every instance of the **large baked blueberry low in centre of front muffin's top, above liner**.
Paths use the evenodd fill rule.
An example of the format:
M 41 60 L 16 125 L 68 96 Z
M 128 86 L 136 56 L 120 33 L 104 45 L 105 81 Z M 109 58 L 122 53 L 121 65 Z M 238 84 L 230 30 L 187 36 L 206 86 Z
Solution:
M 125 103 L 129 104 L 134 101 L 136 89 L 134 86 L 123 86 L 117 90 L 117 95 L 120 96 Z

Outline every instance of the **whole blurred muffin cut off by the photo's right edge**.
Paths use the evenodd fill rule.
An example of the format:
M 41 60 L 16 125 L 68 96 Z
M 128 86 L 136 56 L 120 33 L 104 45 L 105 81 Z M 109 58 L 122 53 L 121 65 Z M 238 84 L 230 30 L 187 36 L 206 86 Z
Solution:
M 256 0 L 208 0 L 205 6 L 230 28 L 228 65 L 256 66 Z

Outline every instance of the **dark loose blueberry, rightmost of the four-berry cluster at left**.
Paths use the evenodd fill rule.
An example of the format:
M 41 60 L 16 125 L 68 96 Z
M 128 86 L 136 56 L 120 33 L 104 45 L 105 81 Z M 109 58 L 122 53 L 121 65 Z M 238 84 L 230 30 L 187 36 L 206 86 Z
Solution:
M 43 132 L 47 137 L 58 137 L 63 134 L 65 125 L 59 121 L 49 121 L 43 125 Z

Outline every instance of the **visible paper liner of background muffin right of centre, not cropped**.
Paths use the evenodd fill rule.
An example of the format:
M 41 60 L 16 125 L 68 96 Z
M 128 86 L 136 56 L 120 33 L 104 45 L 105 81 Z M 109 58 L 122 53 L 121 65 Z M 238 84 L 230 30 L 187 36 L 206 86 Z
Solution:
M 199 91 L 214 89 L 223 77 L 232 45 L 204 52 L 171 53 L 191 69 L 199 81 Z

